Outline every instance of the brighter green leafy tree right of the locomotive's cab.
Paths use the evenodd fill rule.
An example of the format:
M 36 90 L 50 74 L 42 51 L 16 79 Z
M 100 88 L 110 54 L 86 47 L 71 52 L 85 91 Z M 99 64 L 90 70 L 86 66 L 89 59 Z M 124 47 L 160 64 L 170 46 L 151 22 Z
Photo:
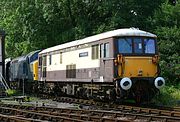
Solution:
M 177 84 L 180 81 L 180 4 L 163 3 L 151 22 L 159 40 L 161 75 L 167 84 Z

